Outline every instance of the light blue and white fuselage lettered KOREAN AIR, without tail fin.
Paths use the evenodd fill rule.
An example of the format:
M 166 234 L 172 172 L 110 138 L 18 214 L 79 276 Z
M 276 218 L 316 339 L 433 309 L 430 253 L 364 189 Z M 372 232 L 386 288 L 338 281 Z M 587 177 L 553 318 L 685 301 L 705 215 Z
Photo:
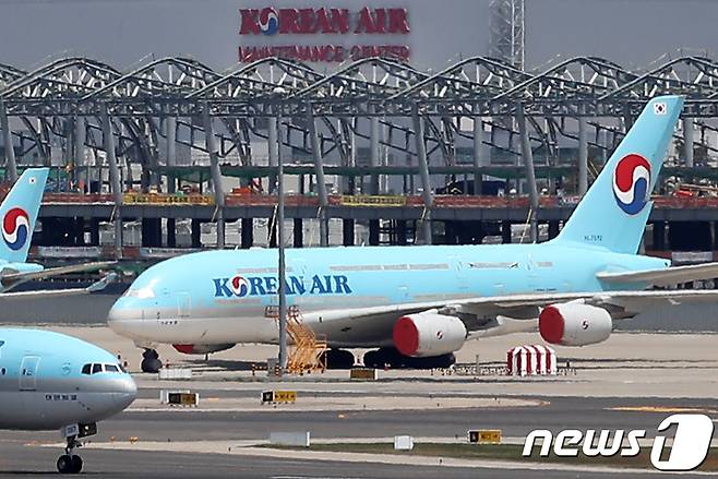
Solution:
M 599 272 L 659 270 L 662 259 L 543 244 L 290 249 L 286 294 L 310 318 L 322 311 L 532 292 L 605 291 Z M 207 251 L 158 263 L 132 284 L 109 324 L 139 344 L 276 343 L 277 251 Z M 189 279 L 188 279 L 189 278 Z M 645 285 L 633 284 L 642 289 Z M 625 285 L 622 285 L 625 289 Z M 131 322 L 131 323 L 128 323 Z M 210 324 L 208 322 L 212 322 Z M 123 326 L 130 327 L 123 327 Z M 144 325 L 144 327 L 143 327 Z M 319 321 L 318 334 L 328 333 Z M 333 346 L 382 346 L 337 343 Z

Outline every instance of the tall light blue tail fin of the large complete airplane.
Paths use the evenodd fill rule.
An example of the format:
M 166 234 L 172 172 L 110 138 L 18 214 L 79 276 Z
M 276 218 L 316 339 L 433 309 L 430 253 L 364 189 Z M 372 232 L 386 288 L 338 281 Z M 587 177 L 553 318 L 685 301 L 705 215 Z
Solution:
M 650 192 L 683 108 L 683 98 L 653 98 L 564 225 L 557 243 L 635 254 L 650 214 Z

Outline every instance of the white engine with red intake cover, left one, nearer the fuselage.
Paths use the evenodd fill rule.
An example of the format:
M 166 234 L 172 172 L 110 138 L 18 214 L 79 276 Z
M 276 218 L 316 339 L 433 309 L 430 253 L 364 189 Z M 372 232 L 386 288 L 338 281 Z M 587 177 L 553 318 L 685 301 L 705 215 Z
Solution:
M 442 356 L 464 346 L 466 326 L 458 318 L 427 311 L 396 320 L 393 337 L 394 346 L 404 356 Z

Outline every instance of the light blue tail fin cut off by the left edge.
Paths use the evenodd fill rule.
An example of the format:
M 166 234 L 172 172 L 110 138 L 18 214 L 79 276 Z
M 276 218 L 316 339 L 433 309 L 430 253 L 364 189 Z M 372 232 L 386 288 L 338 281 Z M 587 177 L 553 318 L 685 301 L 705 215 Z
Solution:
M 48 172 L 48 168 L 26 169 L 0 205 L 0 260 L 10 263 L 27 260 Z

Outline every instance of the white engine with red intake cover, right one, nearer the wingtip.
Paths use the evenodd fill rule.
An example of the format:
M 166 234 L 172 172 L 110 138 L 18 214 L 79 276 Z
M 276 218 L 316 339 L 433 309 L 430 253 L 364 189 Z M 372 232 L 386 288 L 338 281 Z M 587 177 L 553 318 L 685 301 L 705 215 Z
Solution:
M 551 304 L 539 314 L 539 333 L 552 345 L 593 345 L 608 339 L 612 328 L 611 314 L 595 306 Z

